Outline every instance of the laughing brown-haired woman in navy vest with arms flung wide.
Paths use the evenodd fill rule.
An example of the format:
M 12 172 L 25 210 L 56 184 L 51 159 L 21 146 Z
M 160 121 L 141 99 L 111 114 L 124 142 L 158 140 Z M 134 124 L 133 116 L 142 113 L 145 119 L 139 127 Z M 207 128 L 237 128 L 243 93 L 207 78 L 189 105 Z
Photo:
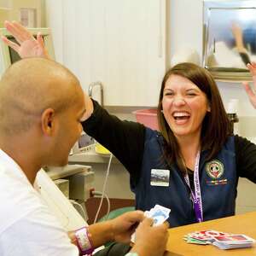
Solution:
M 166 73 L 157 110 L 160 131 L 121 121 L 93 104 L 84 131 L 130 172 L 137 208 L 172 209 L 172 227 L 234 215 L 238 177 L 256 182 L 256 146 L 231 134 L 217 84 L 202 67 L 180 63 Z

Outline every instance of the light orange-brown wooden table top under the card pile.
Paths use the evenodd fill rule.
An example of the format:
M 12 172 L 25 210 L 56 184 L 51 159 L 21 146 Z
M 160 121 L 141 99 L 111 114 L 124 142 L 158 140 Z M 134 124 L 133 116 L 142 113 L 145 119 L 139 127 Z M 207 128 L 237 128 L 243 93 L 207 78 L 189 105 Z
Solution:
M 221 256 L 221 255 L 256 255 L 256 244 L 252 248 L 221 250 L 212 245 L 189 244 L 183 236 L 196 230 L 218 230 L 233 234 L 244 234 L 256 240 L 256 212 L 247 212 L 228 218 L 218 218 L 199 224 L 190 224 L 169 229 L 165 256 Z

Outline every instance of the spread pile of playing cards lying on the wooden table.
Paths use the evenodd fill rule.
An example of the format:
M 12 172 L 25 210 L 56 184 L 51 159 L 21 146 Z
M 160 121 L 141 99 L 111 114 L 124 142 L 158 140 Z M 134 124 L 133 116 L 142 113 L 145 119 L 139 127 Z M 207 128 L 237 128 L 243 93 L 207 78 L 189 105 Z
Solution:
M 234 249 L 252 247 L 255 240 L 245 235 L 235 235 L 216 230 L 201 230 L 189 233 L 184 236 L 184 240 L 188 243 L 201 245 L 212 244 L 220 249 Z

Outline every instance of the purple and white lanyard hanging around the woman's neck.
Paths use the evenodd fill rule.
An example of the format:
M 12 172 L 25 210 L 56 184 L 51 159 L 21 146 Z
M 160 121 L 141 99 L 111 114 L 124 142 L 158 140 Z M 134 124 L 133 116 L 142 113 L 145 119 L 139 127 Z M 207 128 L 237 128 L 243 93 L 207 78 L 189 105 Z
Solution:
M 201 204 L 201 189 L 200 189 L 200 180 L 199 180 L 199 160 L 200 160 L 200 152 L 196 154 L 195 159 L 195 170 L 194 170 L 194 185 L 195 185 L 195 193 L 192 191 L 189 183 L 189 175 L 186 173 L 184 179 L 187 185 L 189 186 L 192 201 L 194 204 L 195 210 L 195 218 L 197 222 L 203 221 L 203 212 L 202 212 L 202 204 Z

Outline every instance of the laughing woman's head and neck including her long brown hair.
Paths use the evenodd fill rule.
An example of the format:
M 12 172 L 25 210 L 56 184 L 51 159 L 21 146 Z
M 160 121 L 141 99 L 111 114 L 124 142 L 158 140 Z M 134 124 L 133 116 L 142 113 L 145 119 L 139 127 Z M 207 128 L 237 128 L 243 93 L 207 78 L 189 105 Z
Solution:
M 198 150 L 211 148 L 207 158 L 212 158 L 231 133 L 212 75 L 192 63 L 178 64 L 166 73 L 158 113 L 166 159 L 170 164 L 175 160 L 183 173 L 187 167 L 194 170 Z

